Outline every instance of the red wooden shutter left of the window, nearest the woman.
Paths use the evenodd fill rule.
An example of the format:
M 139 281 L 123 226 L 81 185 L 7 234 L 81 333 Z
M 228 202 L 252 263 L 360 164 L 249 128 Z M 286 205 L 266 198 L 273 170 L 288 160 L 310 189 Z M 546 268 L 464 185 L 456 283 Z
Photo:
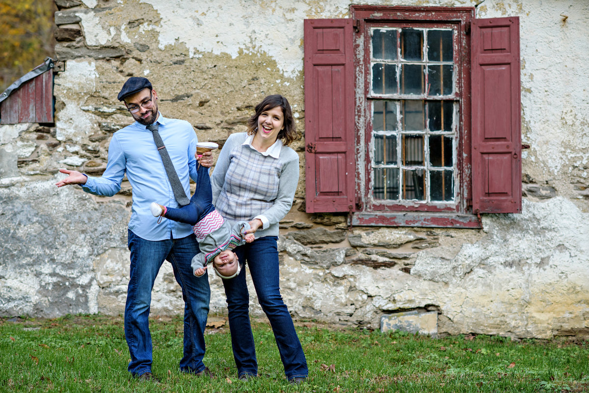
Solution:
M 352 19 L 305 19 L 307 212 L 355 208 Z

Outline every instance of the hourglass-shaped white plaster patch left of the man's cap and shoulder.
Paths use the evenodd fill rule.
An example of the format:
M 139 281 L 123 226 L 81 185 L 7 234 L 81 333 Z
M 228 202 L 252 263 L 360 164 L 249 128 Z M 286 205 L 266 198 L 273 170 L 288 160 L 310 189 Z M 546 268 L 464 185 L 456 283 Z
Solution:
M 58 112 L 55 123 L 59 141 L 71 139 L 82 142 L 85 135 L 94 132 L 97 122 L 81 109 L 81 104 L 95 91 L 98 72 L 94 61 L 70 60 L 64 72 L 55 79 L 55 96 L 62 99 L 65 107 Z

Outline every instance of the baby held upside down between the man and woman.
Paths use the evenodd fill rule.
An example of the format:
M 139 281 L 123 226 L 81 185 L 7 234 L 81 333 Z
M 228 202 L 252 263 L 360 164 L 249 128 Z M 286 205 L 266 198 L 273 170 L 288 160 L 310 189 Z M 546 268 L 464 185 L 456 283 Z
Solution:
M 200 149 L 198 147 L 200 146 Z M 204 147 L 203 147 L 204 146 Z M 197 145 L 197 153 L 202 154 L 203 149 L 216 149 L 219 145 L 212 142 L 203 142 Z M 151 214 L 154 217 L 172 219 L 193 225 L 194 235 L 200 247 L 200 253 L 192 258 L 191 267 L 194 275 L 200 277 L 207 269 L 207 264 L 213 262 L 216 274 L 224 279 L 236 277 L 241 271 L 241 265 L 237 255 L 232 249 L 244 243 L 254 241 L 254 234 L 246 234 L 250 229 L 247 221 L 239 221 L 230 225 L 215 210 L 213 206 L 213 191 L 209 178 L 209 169 L 197 165 L 198 181 L 190 204 L 181 208 L 168 208 L 151 203 Z

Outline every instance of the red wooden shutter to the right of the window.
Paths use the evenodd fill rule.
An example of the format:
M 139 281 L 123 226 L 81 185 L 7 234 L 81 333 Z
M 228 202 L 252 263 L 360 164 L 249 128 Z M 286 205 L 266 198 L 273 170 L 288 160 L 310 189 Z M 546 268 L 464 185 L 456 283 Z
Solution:
M 472 208 L 521 212 L 519 18 L 472 22 Z

